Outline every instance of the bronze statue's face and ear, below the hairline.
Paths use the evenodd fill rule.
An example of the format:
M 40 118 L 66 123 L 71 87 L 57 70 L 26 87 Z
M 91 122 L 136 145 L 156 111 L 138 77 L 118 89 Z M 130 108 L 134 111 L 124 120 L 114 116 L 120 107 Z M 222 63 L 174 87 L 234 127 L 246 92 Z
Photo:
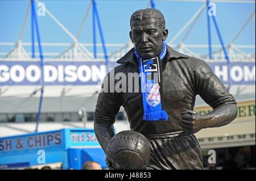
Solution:
M 155 18 L 133 20 L 130 38 L 137 52 L 143 58 L 158 56 L 163 49 L 163 41 L 167 39 L 168 30 L 161 30 Z

